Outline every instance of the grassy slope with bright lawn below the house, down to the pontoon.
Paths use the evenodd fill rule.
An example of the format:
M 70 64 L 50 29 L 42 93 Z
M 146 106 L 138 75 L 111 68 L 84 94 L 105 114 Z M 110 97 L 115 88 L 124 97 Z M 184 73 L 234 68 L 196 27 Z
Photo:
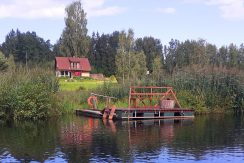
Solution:
M 106 78 L 105 80 L 94 80 L 90 78 L 75 78 L 69 80 L 67 78 L 59 78 L 59 92 L 58 98 L 62 103 L 62 112 L 73 113 L 75 109 L 89 108 L 87 99 L 91 93 L 102 95 L 115 95 L 115 90 L 120 90 L 120 86 L 114 78 Z M 122 97 L 120 95 L 120 97 Z M 123 95 L 124 97 L 124 95 Z M 122 99 L 113 101 L 114 104 L 125 106 Z M 105 99 L 99 98 L 98 108 L 103 109 L 105 106 Z

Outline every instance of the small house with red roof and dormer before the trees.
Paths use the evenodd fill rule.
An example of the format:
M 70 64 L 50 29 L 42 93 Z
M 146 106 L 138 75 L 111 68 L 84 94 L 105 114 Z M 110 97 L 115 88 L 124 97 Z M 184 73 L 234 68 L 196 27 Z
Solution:
M 88 58 L 55 57 L 57 77 L 90 77 L 91 65 Z

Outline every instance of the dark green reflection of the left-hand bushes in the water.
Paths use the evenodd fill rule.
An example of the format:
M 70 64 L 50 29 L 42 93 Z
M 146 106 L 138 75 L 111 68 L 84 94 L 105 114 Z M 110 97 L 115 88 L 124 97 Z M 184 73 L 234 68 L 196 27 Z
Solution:
M 55 154 L 58 127 L 52 122 L 15 122 L 0 125 L 0 153 L 6 150 L 17 160 L 44 161 Z M 4 149 L 3 149 L 4 148 Z M 48 155 L 45 155 L 48 153 Z

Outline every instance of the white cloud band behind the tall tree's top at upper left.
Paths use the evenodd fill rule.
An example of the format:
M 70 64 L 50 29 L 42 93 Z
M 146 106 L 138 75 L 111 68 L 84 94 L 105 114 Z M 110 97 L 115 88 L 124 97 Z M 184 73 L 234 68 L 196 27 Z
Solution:
M 106 0 L 83 0 L 88 17 L 110 16 L 122 13 L 123 8 L 105 6 Z M 3 0 L 0 3 L 1 18 L 64 18 L 65 7 L 72 0 Z

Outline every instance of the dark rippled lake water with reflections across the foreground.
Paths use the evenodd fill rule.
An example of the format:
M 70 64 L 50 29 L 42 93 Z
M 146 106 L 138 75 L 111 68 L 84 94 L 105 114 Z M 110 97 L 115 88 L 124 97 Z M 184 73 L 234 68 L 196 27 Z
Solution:
M 244 162 L 244 117 L 0 123 L 0 162 Z

